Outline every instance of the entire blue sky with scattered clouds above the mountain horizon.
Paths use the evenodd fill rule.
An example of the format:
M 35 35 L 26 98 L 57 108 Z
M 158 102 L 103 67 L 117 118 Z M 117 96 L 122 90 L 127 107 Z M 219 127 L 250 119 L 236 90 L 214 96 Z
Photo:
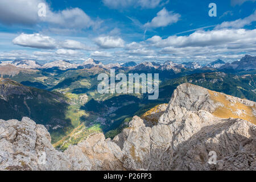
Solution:
M 230 62 L 256 55 L 255 21 L 256 0 L 1 0 L 0 60 Z

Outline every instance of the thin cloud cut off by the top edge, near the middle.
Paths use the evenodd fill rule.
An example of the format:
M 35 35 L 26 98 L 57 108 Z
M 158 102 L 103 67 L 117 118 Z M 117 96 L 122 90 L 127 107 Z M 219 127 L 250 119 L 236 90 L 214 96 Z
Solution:
M 105 6 L 112 9 L 120 9 L 126 7 L 142 7 L 144 9 L 154 9 L 160 5 L 162 0 L 103 0 Z

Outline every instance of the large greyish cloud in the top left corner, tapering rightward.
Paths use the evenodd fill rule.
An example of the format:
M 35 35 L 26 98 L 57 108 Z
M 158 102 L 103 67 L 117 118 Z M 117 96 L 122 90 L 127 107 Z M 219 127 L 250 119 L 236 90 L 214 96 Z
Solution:
M 38 16 L 39 3 L 46 4 L 46 17 Z M 24 25 L 45 22 L 63 28 L 97 28 L 101 24 L 101 20 L 92 20 L 79 8 L 53 12 L 45 0 L 1 0 L 0 22 Z

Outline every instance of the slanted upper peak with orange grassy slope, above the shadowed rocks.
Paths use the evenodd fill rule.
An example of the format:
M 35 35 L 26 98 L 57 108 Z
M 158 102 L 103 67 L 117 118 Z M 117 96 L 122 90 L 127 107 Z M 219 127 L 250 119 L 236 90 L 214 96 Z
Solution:
M 205 110 L 218 118 L 240 118 L 256 124 L 255 102 L 189 83 L 177 86 L 168 108 L 175 106 L 191 111 Z

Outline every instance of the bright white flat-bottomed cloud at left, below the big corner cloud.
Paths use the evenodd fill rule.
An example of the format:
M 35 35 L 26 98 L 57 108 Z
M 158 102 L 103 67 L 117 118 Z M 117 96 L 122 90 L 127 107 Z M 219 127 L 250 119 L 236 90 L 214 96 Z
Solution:
M 40 34 L 20 34 L 13 43 L 19 46 L 32 47 L 32 48 L 43 48 L 43 49 L 54 49 L 56 48 L 55 39 L 49 36 L 43 36 Z

